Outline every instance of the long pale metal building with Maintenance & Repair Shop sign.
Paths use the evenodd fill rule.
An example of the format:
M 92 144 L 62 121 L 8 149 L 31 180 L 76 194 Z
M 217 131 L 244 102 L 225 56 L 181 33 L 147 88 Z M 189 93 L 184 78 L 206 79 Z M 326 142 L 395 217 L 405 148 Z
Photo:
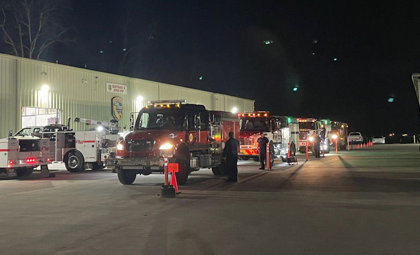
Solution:
M 0 54 L 0 89 L 0 138 L 9 130 L 64 123 L 68 117 L 110 121 L 113 98 L 122 114 L 120 126 L 128 126 L 130 112 L 149 100 L 186 99 L 208 110 L 254 110 L 250 99 L 4 54 Z M 71 127 L 86 129 L 83 123 L 72 122 Z

